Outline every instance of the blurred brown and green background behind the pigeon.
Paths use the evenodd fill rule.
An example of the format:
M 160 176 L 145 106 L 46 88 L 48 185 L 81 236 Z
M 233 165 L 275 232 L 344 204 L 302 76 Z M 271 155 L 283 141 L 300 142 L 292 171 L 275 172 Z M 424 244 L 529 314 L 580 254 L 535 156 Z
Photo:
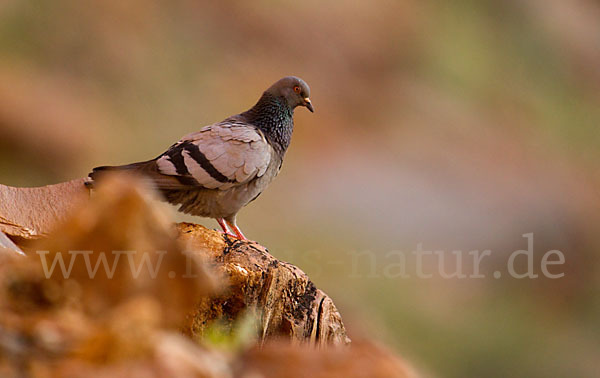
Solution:
M 153 158 L 285 75 L 316 112 L 238 217 L 249 238 L 427 376 L 597 375 L 597 1 L 4 0 L 0 182 Z M 494 278 L 526 233 L 563 278 Z M 414 277 L 419 244 L 448 271 L 491 250 L 486 278 Z

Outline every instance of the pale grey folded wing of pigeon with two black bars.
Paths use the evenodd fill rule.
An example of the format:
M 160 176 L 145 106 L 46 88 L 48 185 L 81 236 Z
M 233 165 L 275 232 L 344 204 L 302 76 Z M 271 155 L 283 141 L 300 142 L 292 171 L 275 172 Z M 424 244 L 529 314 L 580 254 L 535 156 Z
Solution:
M 228 189 L 265 174 L 272 148 L 258 129 L 237 122 L 206 126 L 171 146 L 157 160 L 158 173 L 182 186 Z M 167 186 L 173 189 L 173 181 Z M 161 187 L 160 180 L 157 182 Z

